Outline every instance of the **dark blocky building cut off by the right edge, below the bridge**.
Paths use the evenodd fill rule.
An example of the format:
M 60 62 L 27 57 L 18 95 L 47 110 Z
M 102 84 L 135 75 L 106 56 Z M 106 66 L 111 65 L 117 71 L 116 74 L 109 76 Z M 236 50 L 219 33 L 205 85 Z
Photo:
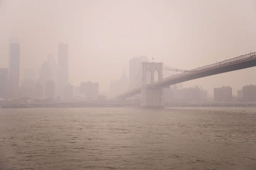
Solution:
M 243 101 L 256 102 L 256 85 L 243 86 Z

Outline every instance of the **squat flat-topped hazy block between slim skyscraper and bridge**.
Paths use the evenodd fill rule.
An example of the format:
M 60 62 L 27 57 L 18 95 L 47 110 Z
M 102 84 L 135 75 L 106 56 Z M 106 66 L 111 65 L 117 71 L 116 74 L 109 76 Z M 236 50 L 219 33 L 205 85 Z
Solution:
M 99 83 L 82 82 L 80 85 L 81 94 L 85 94 L 86 100 L 96 100 L 99 96 Z

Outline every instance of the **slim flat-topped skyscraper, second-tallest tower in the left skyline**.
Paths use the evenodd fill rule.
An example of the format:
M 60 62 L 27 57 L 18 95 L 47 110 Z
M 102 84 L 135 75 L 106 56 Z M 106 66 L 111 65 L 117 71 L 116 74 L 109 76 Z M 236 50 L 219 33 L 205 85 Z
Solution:
M 68 44 L 59 43 L 57 94 L 60 98 L 65 96 L 64 91 L 67 84 L 69 84 Z

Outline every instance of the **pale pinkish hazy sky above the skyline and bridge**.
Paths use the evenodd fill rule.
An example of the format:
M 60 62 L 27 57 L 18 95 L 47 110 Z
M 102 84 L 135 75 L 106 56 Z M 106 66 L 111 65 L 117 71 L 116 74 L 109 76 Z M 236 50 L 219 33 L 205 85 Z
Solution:
M 0 0 L 0 67 L 8 67 L 13 27 L 21 75 L 39 70 L 58 43 L 69 44 L 69 80 L 99 81 L 101 91 L 140 55 L 190 69 L 256 51 L 256 0 Z M 256 84 L 256 67 L 184 83 Z

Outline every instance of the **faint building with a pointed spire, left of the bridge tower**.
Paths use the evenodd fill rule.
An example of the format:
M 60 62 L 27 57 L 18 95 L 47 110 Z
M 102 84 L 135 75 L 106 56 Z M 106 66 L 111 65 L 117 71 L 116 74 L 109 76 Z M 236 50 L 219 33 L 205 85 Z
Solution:
M 116 97 L 118 94 L 121 94 L 128 90 L 128 84 L 129 80 L 124 70 L 122 77 L 119 78 L 119 80 L 110 81 L 110 97 Z

